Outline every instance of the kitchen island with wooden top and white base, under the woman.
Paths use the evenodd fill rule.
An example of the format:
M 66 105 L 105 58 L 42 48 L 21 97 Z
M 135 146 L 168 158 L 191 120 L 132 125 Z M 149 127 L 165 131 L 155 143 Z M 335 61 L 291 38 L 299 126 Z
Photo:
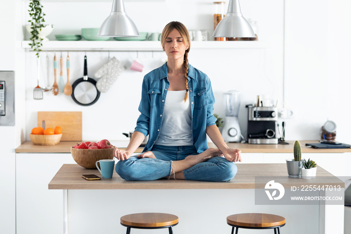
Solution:
M 184 234 L 230 233 L 226 216 L 245 212 L 284 216 L 283 233 L 343 233 L 343 205 L 325 205 L 323 201 L 317 205 L 256 204 L 255 191 L 264 188 L 264 184 L 256 184 L 255 188 L 258 177 L 276 178 L 286 193 L 293 186 L 344 187 L 343 181 L 321 167 L 317 169 L 317 177 L 311 180 L 288 178 L 285 164 L 238 164 L 238 174 L 229 182 L 125 181 L 115 172 L 111 179 L 87 181 L 82 174 L 99 175 L 99 172 L 64 164 L 49 183 L 50 190 L 63 190 L 64 233 L 123 233 L 125 228 L 119 224 L 119 217 L 137 212 L 178 215 L 180 223 L 174 232 Z M 252 233 L 246 231 L 241 232 Z

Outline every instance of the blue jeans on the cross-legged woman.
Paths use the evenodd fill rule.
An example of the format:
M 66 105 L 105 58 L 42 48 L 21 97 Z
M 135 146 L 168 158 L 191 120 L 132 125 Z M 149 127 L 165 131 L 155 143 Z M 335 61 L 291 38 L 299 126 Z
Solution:
M 194 146 L 154 145 L 152 153 L 156 159 L 136 156 L 118 161 L 117 174 L 125 180 L 157 180 L 171 177 L 172 161 L 183 160 L 189 155 L 197 155 Z M 234 178 L 237 166 L 223 157 L 213 157 L 183 171 L 186 180 L 229 181 Z

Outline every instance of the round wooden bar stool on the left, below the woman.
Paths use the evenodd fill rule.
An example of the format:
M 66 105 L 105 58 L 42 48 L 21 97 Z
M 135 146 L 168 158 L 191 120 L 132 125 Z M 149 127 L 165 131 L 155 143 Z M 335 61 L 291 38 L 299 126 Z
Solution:
M 165 213 L 136 213 L 121 217 L 121 224 L 127 227 L 127 234 L 130 234 L 130 228 L 157 229 L 166 227 L 168 227 L 169 234 L 173 234 L 172 226 L 177 225 L 178 222 L 178 216 Z

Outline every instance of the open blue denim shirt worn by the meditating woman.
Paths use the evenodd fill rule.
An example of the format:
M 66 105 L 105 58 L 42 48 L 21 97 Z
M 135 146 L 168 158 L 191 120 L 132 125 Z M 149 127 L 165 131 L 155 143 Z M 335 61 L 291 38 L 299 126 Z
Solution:
M 202 153 L 209 148 L 206 127 L 215 125 L 217 120 L 213 115 L 215 97 L 211 81 L 205 73 L 190 64 L 188 71 L 193 143 L 197 152 Z M 159 135 L 168 87 L 167 63 L 144 76 L 139 105 L 140 115 L 135 128 L 135 131 L 144 134 L 145 137 L 149 135 L 143 152 L 151 150 Z

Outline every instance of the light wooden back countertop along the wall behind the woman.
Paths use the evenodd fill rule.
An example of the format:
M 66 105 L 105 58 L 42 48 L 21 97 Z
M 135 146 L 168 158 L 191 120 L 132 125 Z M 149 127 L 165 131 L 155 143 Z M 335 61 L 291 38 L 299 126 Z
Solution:
M 306 143 L 317 143 L 318 141 L 299 141 L 302 153 L 345 153 L 351 152 L 351 149 L 313 149 L 304 147 Z M 70 148 L 78 142 L 60 142 L 55 146 L 36 146 L 31 141 L 24 142 L 16 148 L 16 153 L 71 153 Z M 128 145 L 128 141 L 114 141 L 112 145 L 124 149 Z M 294 141 L 288 141 L 289 145 L 252 145 L 241 143 L 228 143 L 231 148 L 240 149 L 242 153 L 292 153 Z M 209 143 L 209 147 L 216 148 L 213 143 Z M 138 148 L 135 153 L 141 153 L 142 147 Z

